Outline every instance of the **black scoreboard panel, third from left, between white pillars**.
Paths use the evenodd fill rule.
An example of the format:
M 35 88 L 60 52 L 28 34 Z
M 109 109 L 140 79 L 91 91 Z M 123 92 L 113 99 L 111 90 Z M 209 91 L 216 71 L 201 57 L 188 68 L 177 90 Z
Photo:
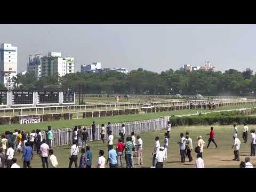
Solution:
M 37 92 L 37 103 L 59 103 L 59 92 L 58 91 L 38 91 Z

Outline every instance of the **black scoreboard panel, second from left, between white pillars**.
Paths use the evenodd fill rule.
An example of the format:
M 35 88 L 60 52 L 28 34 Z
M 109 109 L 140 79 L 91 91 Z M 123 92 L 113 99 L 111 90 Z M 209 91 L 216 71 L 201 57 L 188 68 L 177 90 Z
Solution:
M 33 105 L 33 91 L 13 91 L 12 105 Z

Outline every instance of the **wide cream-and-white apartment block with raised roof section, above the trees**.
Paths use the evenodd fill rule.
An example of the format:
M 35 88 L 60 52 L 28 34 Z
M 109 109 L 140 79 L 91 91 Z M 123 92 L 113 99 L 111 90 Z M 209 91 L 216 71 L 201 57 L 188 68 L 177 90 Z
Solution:
M 41 58 L 41 76 L 48 77 L 59 74 L 60 77 L 75 73 L 73 57 L 61 57 L 61 53 L 48 52 Z

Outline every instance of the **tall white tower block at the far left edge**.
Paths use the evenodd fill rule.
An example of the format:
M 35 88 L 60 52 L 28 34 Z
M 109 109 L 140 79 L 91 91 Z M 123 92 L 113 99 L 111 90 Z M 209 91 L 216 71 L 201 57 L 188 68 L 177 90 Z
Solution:
M 8 89 L 13 87 L 12 77 L 17 76 L 17 47 L 10 43 L 2 43 L 0 46 L 0 83 Z

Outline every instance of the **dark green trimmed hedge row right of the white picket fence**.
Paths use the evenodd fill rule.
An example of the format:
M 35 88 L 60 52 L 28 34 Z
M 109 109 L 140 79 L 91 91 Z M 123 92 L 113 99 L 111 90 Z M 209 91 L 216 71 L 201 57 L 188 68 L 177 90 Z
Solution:
M 171 117 L 171 125 L 212 125 L 218 123 L 220 125 L 237 124 L 256 124 L 256 116 L 187 116 L 187 117 Z

